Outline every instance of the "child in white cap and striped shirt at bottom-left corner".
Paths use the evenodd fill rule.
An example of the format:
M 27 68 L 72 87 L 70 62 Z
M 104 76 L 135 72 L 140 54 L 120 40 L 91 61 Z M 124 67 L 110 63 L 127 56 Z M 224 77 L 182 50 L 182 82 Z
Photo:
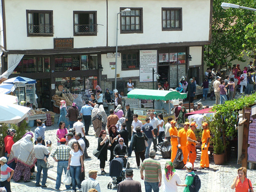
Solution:
M 7 164 L 6 157 L 0 158 L 1 164 L 1 176 L 0 176 L 0 187 L 5 187 L 7 192 L 11 192 L 11 178 L 13 176 L 14 170 L 10 168 Z

